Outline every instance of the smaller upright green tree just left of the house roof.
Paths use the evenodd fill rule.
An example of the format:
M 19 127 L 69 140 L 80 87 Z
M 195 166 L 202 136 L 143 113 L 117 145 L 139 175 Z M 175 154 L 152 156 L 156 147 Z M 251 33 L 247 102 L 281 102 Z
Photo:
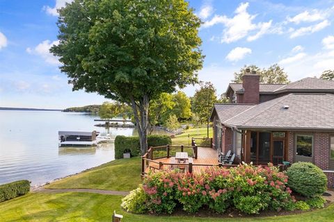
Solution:
M 208 123 L 214 103 L 217 101 L 216 88 L 210 82 L 201 83 L 193 96 L 192 111 L 201 123 Z

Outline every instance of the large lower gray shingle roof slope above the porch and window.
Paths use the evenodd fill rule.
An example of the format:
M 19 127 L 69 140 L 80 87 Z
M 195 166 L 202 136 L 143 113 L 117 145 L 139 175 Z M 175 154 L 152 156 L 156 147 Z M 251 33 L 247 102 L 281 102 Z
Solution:
M 222 122 L 248 129 L 334 130 L 334 94 L 288 94 Z

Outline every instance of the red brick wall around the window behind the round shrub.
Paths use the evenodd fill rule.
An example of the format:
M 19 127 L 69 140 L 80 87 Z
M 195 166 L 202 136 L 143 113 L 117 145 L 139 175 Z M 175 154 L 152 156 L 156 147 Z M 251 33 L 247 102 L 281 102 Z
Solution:
M 331 133 L 322 132 L 289 132 L 288 133 L 288 153 L 287 160 L 294 162 L 295 136 L 296 135 L 312 135 L 313 136 L 313 163 L 325 171 L 328 178 L 328 187 L 334 187 L 334 171 L 328 171 L 330 158 L 330 135 Z

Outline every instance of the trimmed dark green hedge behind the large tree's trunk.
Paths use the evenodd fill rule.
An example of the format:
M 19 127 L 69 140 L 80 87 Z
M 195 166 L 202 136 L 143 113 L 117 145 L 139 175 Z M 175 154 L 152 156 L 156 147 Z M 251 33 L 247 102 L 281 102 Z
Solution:
M 149 135 L 148 146 L 166 146 L 172 140 L 168 135 Z M 139 137 L 117 136 L 115 138 L 115 158 L 121 159 L 125 151 L 130 151 L 133 157 L 141 155 Z

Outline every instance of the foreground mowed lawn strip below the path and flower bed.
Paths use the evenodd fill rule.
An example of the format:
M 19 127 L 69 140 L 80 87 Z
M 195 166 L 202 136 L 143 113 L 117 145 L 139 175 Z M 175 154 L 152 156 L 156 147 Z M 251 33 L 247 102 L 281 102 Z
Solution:
M 27 194 L 0 203 L 0 221 L 112 221 L 113 211 L 122 214 L 122 221 L 334 221 L 334 204 L 326 209 L 293 216 L 267 218 L 199 218 L 193 216 L 148 216 L 124 212 L 122 196 L 88 193 Z

